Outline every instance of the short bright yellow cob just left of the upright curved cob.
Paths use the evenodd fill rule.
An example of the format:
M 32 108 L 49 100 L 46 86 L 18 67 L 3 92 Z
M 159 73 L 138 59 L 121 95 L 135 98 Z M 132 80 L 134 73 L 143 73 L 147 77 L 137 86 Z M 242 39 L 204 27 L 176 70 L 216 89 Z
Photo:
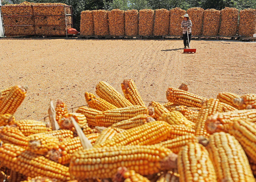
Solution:
M 165 121 L 169 124 L 185 125 L 187 127 L 194 128 L 195 123 L 189 121 L 185 116 L 179 111 L 172 111 L 169 113 L 162 114 L 159 118 L 159 121 Z

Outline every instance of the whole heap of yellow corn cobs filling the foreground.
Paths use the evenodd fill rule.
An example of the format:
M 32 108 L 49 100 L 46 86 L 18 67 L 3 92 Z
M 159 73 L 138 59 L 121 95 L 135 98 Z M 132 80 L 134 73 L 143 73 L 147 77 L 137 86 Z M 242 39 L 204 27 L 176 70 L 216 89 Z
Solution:
M 145 105 L 133 80 L 107 82 L 69 112 L 15 120 L 27 86 L 0 90 L 0 181 L 255 181 L 256 94 L 204 98 L 188 85 Z

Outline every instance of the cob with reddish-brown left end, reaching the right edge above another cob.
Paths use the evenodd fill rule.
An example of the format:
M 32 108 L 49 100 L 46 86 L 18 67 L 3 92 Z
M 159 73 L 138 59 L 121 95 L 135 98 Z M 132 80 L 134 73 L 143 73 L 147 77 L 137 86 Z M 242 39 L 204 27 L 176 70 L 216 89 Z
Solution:
M 256 122 L 256 109 L 243 109 L 213 114 L 206 121 L 207 132 L 212 134 L 223 131 L 230 123 L 239 119 L 246 119 L 253 123 Z

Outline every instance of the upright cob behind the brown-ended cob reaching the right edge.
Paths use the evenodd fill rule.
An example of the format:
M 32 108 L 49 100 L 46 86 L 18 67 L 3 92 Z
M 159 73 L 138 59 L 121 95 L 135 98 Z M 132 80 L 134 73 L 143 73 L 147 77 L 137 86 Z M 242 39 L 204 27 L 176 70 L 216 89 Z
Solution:
M 206 126 L 205 126 L 205 122 L 208 116 L 218 113 L 218 112 L 222 112 L 222 105 L 220 104 L 220 102 L 217 99 L 208 99 L 206 100 L 203 105 L 202 108 L 200 109 L 199 113 L 198 113 L 198 118 L 196 120 L 196 126 L 195 126 L 195 135 L 196 136 L 205 136 L 205 137 L 209 137 L 210 134 L 207 133 L 206 130 Z

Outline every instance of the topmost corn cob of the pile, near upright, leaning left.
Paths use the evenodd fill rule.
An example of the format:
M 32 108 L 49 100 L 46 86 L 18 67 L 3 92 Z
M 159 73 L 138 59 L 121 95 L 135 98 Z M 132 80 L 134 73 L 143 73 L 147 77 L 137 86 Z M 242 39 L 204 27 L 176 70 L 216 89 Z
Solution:
M 125 79 L 123 83 L 121 83 L 121 87 L 124 93 L 124 97 L 127 100 L 129 100 L 133 105 L 140 105 L 145 107 L 145 103 L 143 102 L 141 95 L 138 93 L 133 80 Z

